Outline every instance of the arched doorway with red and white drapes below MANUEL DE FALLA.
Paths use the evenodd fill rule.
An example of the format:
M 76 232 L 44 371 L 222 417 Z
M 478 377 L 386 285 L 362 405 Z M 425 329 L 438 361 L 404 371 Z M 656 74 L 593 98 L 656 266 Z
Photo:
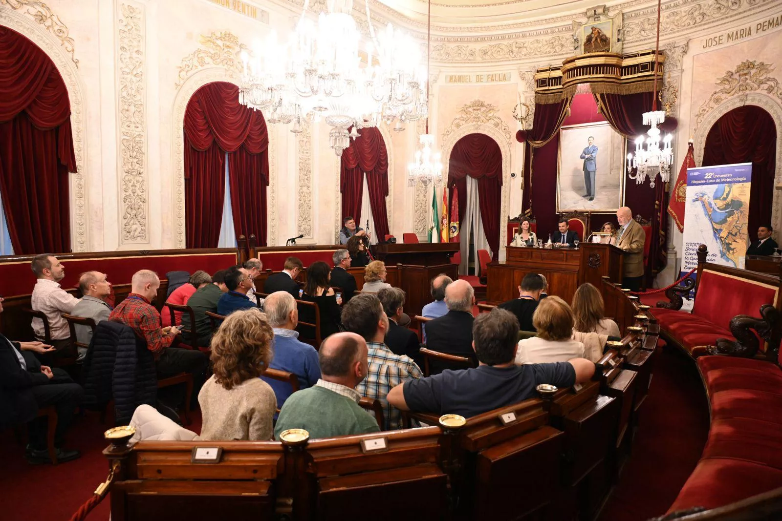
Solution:
M 480 249 L 489 250 L 494 261 L 500 253 L 502 152 L 497 141 L 479 133 L 461 137 L 448 158 L 447 185 L 449 200 L 458 198 L 459 273 L 467 274 L 471 260 L 474 266 L 479 266 Z

